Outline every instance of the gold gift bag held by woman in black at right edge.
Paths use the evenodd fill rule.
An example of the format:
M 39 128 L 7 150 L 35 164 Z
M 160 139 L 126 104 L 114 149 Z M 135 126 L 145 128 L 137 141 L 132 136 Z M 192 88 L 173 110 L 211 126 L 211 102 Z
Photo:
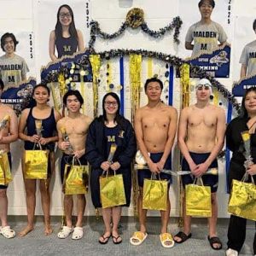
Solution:
M 253 176 L 252 183 L 245 183 L 246 178 L 247 174 L 241 181 L 233 179 L 228 212 L 256 221 L 256 186 Z

